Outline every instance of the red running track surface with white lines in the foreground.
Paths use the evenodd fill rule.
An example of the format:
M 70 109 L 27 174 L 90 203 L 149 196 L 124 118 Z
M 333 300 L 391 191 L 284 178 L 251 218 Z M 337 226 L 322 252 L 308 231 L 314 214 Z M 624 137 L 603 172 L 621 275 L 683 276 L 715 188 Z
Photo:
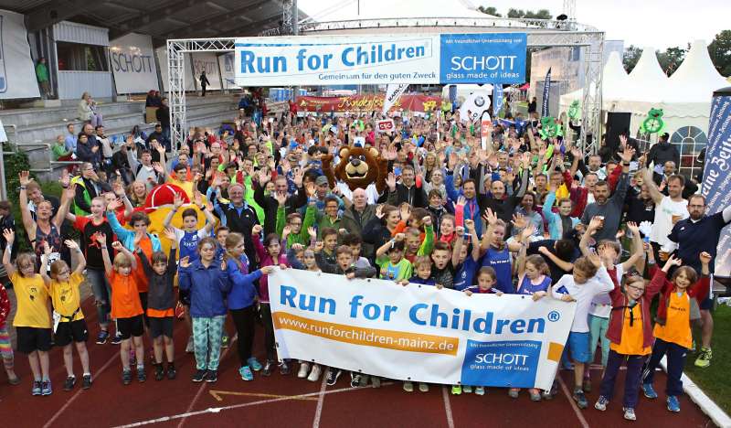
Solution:
M 90 337 L 96 337 L 96 311 L 88 300 L 84 314 L 90 326 Z M 259 328 L 259 327 L 258 327 Z M 234 328 L 228 325 L 229 333 Z M 257 330 L 257 357 L 263 337 Z M 609 404 L 607 412 L 593 408 L 579 411 L 567 395 L 573 375 L 560 373 L 562 388 L 553 401 L 531 402 L 527 392 L 517 400 L 510 399 L 503 389 L 488 389 L 485 396 L 462 394 L 452 396 L 446 388 L 431 385 L 426 393 L 402 391 L 401 382 L 394 381 L 375 390 L 350 388 L 350 378 L 344 374 L 333 387 L 322 381 L 296 379 L 295 374 L 283 377 L 279 372 L 270 378 L 260 377 L 244 382 L 238 377 L 238 357 L 235 342 L 222 354 L 218 381 L 214 384 L 194 383 L 190 380 L 195 369 L 192 355 L 183 353 L 187 331 L 184 323 L 175 325 L 176 380 L 155 381 L 147 356 L 148 380 L 144 384 L 132 381 L 122 385 L 122 365 L 119 347 L 99 346 L 90 338 L 89 351 L 94 384 L 89 391 L 81 391 L 79 382 L 74 391 L 62 390 L 66 370 L 61 350 L 51 352 L 51 380 L 54 392 L 48 397 L 30 395 L 30 370 L 27 358 L 16 354 L 16 371 L 23 382 L 9 386 L 0 383 L 0 421 L 7 427 L 101 427 L 150 424 L 166 427 L 241 426 L 248 423 L 263 427 L 323 426 L 348 428 L 360 426 L 418 427 L 431 426 L 528 426 L 536 423 L 546 427 L 611 426 L 624 424 L 621 413 L 621 390 Z M 150 347 L 149 343 L 145 343 Z M 74 351 L 75 352 L 75 351 Z M 76 353 L 74 364 L 80 378 Z M 296 368 L 295 368 L 296 369 Z M 594 390 L 588 394 L 590 405 L 597 400 L 601 372 L 592 370 Z M 620 380 L 622 380 L 620 374 Z M 652 423 L 663 427 L 705 427 L 713 423 L 692 401 L 681 398 L 682 412 L 670 413 L 665 409 L 662 391 L 664 374 L 656 376 L 655 388 L 661 398 L 649 401 L 641 398 L 637 408 L 637 423 Z M 214 395 L 218 395 L 220 401 Z M 210 412 L 208 409 L 219 409 Z M 134 425 L 133 425 L 134 426 Z

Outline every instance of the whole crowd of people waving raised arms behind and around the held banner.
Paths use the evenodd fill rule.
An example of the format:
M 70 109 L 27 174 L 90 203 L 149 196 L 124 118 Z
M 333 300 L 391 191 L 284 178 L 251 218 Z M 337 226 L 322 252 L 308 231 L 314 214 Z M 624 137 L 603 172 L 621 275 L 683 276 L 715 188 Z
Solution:
M 622 136 L 614 153 L 585 156 L 569 137 L 540 138 L 537 122 L 497 124 L 483 145 L 479 126 L 458 117 L 400 112 L 393 132 L 376 133 L 379 114 L 260 121 L 240 114 L 235 129 L 191 129 L 181 144 L 158 126 L 146 138 L 133 131 L 119 146 L 110 144 L 101 116 L 97 123 L 90 117 L 79 134 L 69 124 L 58 144 L 83 164 L 75 177 L 60 177 L 61 199 L 43 195 L 27 172 L 20 175 L 22 224 L 33 252 L 16 253 L 9 205 L 0 202 L 3 264 L 17 298 L 16 317 L 8 319 L 0 288 L 0 351 L 10 383 L 19 382 L 11 323 L 16 349 L 30 361 L 34 395 L 52 392 L 51 343 L 63 348 L 63 389 L 76 384 L 74 348 L 81 388 L 91 387 L 89 332 L 97 346 L 120 345 L 125 385 L 146 380 L 150 348 L 154 379 L 175 379 L 178 316 L 189 332 L 186 351 L 195 354 L 193 380 L 214 382 L 220 348 L 233 337 L 230 316 L 242 380 L 279 370 L 311 381 L 325 376 L 334 385 L 340 369 L 278 361 L 267 275 L 279 267 L 495 294 L 490 298 L 576 301 L 562 365 L 574 371 L 577 406 L 587 408 L 586 394 L 599 387 L 594 407 L 606 410 L 624 362 L 622 407 L 634 420 L 640 391 L 658 397 L 654 369 L 667 356 L 666 405 L 679 412 L 683 364 L 695 348 L 692 322 L 703 326 L 694 364 L 712 360 L 709 275 L 731 207 L 706 214 L 696 184 L 677 173 L 667 138 L 640 154 Z M 382 192 L 375 184 L 331 187 L 323 159 L 350 162 L 337 155 L 347 145 L 375 147 L 387 160 Z M 137 208 L 164 183 L 180 193 L 158 236 Z M 179 211 L 182 229 L 172 224 Z M 66 236 L 69 223 L 80 231 L 78 243 Z M 161 238 L 172 243 L 169 251 Z M 98 326 L 84 321 L 84 281 Z M 252 353 L 258 334 L 263 361 Z M 588 364 L 598 348 L 603 379 L 592 385 Z M 377 376 L 350 376 L 354 387 L 380 386 Z M 414 385 L 405 381 L 403 389 Z M 418 383 L 418 390 L 429 385 Z M 472 391 L 484 388 L 451 389 Z M 528 393 L 541 401 L 556 391 Z

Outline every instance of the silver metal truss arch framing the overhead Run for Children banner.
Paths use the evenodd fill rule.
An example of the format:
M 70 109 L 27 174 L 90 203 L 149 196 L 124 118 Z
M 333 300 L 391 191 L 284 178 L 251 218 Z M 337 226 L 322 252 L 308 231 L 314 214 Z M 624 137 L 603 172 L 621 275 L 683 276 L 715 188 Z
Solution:
M 291 0 L 289 0 L 291 2 Z M 285 2 L 286 3 L 289 2 Z M 294 2 L 292 2 L 294 3 Z M 296 3 L 294 3 L 296 5 Z M 289 22 L 297 22 L 296 16 L 288 16 Z M 352 30 L 354 33 L 395 30 L 406 32 L 449 32 L 447 28 L 459 28 L 457 32 L 525 32 L 528 48 L 575 47 L 583 49 L 585 84 L 581 103 L 581 144 L 586 154 L 599 150 L 601 136 L 601 73 L 604 49 L 604 32 L 594 27 L 569 21 L 545 19 L 511 19 L 487 16 L 485 18 L 403 18 L 362 19 L 337 22 L 301 22 L 296 34 L 337 35 Z M 570 25 L 568 25 L 570 23 Z M 291 26 L 293 27 L 293 26 Z M 268 31 L 266 36 L 279 36 L 290 28 Z M 167 41 L 168 99 L 170 102 L 170 132 L 175 146 L 185 139 L 185 53 L 231 52 L 236 38 L 193 38 Z

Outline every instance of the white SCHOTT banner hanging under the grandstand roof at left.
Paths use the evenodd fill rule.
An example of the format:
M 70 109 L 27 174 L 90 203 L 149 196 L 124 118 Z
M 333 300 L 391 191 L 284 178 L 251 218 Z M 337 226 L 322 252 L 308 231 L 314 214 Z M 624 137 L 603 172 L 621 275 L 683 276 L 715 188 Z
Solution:
M 159 91 L 153 38 L 130 33 L 110 42 L 111 72 L 117 93 Z

